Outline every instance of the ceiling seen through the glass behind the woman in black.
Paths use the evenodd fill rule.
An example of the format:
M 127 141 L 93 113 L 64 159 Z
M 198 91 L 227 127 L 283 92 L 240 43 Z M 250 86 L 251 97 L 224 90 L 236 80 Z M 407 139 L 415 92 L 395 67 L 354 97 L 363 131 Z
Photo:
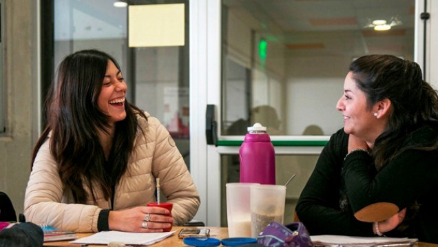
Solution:
M 413 54 L 415 0 L 224 0 L 253 30 L 295 54 Z M 371 21 L 401 25 L 377 32 Z M 249 21 L 250 20 L 250 21 Z

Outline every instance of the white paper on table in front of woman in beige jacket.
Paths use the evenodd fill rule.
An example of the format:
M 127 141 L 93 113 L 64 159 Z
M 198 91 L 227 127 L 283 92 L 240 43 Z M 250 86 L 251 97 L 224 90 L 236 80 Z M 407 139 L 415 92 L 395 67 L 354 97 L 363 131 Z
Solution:
M 109 244 L 121 242 L 129 245 L 149 245 L 173 235 L 175 231 L 168 233 L 125 233 L 116 230 L 100 232 L 88 237 L 82 237 L 71 244 Z

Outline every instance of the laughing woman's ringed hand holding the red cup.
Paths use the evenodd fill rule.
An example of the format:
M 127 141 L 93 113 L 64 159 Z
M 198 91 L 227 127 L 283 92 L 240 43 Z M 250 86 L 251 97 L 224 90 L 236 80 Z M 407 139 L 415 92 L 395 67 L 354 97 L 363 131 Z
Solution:
M 169 213 L 166 208 L 157 206 L 137 206 L 123 211 L 110 211 L 108 226 L 110 230 L 124 232 L 161 233 L 174 222 L 172 217 L 166 215 Z

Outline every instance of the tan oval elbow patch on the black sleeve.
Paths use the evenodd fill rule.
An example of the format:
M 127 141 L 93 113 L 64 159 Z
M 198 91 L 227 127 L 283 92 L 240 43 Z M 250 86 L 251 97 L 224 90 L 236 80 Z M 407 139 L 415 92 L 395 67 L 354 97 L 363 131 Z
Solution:
M 355 213 L 361 222 L 381 222 L 399 213 L 399 207 L 390 202 L 377 202 L 368 205 Z

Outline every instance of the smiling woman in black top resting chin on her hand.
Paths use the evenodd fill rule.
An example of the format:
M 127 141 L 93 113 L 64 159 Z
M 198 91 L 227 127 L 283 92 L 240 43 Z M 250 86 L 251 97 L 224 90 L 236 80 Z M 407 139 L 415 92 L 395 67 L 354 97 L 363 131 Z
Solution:
M 417 63 L 353 61 L 331 136 L 298 205 L 311 235 L 416 237 L 438 244 L 438 95 Z

